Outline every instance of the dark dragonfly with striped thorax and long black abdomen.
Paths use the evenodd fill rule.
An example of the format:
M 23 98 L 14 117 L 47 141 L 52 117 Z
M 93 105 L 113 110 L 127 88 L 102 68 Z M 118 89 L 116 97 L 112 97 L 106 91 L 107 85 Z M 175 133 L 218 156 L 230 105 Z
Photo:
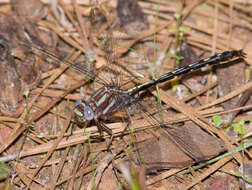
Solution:
M 84 74 L 91 77 L 92 74 L 88 71 L 82 70 L 79 67 L 76 67 L 73 63 L 60 60 L 58 57 L 46 52 L 43 49 L 35 47 L 31 44 L 23 43 L 26 46 L 29 46 L 35 50 L 42 52 L 43 54 L 47 55 L 48 57 L 54 59 L 55 61 L 62 62 L 63 64 L 69 65 L 73 69 L 82 72 Z M 102 87 L 96 90 L 90 98 L 84 100 L 79 99 L 74 103 L 74 114 L 77 123 L 81 125 L 88 125 L 90 122 L 94 122 L 97 126 L 97 129 L 102 136 L 103 132 L 106 132 L 110 135 L 110 140 L 108 146 L 111 144 L 112 139 L 114 137 L 113 131 L 104 124 L 104 118 L 107 118 L 114 114 L 117 111 L 125 110 L 127 107 L 131 106 L 132 104 L 136 104 L 139 102 L 139 98 L 136 98 L 139 92 L 142 92 L 152 86 L 157 84 L 169 81 L 181 75 L 185 75 L 189 72 L 199 70 L 206 66 L 213 66 L 218 64 L 224 64 L 227 62 L 232 62 L 238 59 L 244 59 L 246 57 L 246 53 L 243 50 L 231 50 L 231 51 L 224 51 L 220 54 L 215 54 L 209 58 L 201 59 L 195 63 L 187 65 L 185 67 L 179 68 L 172 72 L 165 73 L 164 75 L 160 76 L 157 79 L 152 79 L 146 83 L 136 85 L 131 88 L 123 89 L 123 85 L 119 85 L 117 82 L 111 80 L 110 84 L 106 83 L 105 80 L 97 76 L 97 82 L 100 81 Z M 102 82 L 101 82 L 102 81 Z M 126 111 L 126 114 L 127 111 Z M 130 123 L 127 124 L 125 130 L 128 128 Z

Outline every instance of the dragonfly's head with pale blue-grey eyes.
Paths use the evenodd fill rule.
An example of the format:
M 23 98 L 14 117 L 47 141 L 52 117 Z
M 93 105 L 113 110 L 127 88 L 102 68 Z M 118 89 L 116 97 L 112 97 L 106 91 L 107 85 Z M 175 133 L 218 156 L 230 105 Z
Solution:
M 93 109 L 82 100 L 77 100 L 74 103 L 74 113 L 78 122 L 80 123 L 84 123 L 86 121 L 91 121 L 94 119 Z

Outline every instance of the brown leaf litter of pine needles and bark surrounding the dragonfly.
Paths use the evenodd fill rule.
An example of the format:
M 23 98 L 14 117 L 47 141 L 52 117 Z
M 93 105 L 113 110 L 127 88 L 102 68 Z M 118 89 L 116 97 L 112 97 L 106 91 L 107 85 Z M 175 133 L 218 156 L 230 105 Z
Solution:
M 200 173 L 195 171 L 178 177 L 174 174 L 181 169 L 168 170 L 190 168 L 225 150 L 233 150 L 249 138 L 245 135 L 244 139 L 240 134 L 236 139 L 228 136 L 225 122 L 230 124 L 235 117 L 229 117 L 219 128 L 213 125 L 211 117 L 216 114 L 223 116 L 237 109 L 240 112 L 235 116 L 239 116 L 239 119 L 246 118 L 244 125 L 251 122 L 251 119 L 247 119 L 251 109 L 246 107 L 249 106 L 248 98 L 245 97 L 246 101 L 239 99 L 241 93 L 248 93 L 247 90 L 251 89 L 251 82 L 245 83 L 250 78 L 246 74 L 249 70 L 246 66 L 250 64 L 251 58 L 250 17 L 247 14 L 250 4 L 246 6 L 225 0 L 214 4 L 212 1 L 203 3 L 195 0 L 190 3 L 128 1 L 127 5 L 123 5 L 124 1 L 118 1 L 116 9 L 115 1 L 94 4 L 86 1 L 52 1 L 51 6 L 47 1 L 18 2 L 12 0 L 1 4 L 1 81 L 6 81 L 6 78 L 8 80 L 1 85 L 0 94 L 0 160 L 8 162 L 15 173 L 3 183 L 27 189 L 91 189 L 94 186 L 98 189 L 116 189 L 120 186 L 189 189 L 195 185 L 206 185 L 211 189 L 214 187 L 207 184 L 205 178 L 222 179 L 218 176 L 224 175 L 221 172 L 223 168 L 238 169 L 239 165 L 249 162 L 250 150 L 247 149 L 243 150 L 246 154 L 236 153 L 222 158 L 209 165 L 208 169 L 201 169 Z M 48 11 L 50 7 L 51 12 Z M 132 7 L 136 8 L 130 12 Z M 119 13 L 116 14 L 116 10 Z M 133 16 L 130 17 L 131 15 Z M 118 20 L 120 24 L 116 24 Z M 115 26 L 111 31 L 108 25 L 112 24 Z M 183 29 L 186 27 L 190 29 Z M 112 53 L 104 51 L 104 44 L 100 40 L 106 37 L 106 31 L 117 41 Z M 68 69 L 71 65 L 53 63 L 55 60 L 43 53 L 31 51 L 31 48 L 21 45 L 26 42 L 27 35 L 35 47 L 61 60 L 79 64 L 78 68 L 88 70 L 90 76 L 85 77 L 74 69 Z M 127 68 L 123 72 L 127 73 L 126 80 L 131 81 L 128 85 L 133 86 L 150 79 L 151 74 L 147 74 L 150 73 L 148 61 L 155 63 L 153 69 L 159 69 L 160 73 L 178 67 L 177 59 L 181 58 L 180 52 L 183 49 L 180 48 L 185 41 L 188 45 L 184 51 L 189 52 L 181 53 L 185 63 L 193 62 L 191 59 L 195 55 L 200 59 L 227 49 L 243 49 L 247 53 L 247 65 L 244 62 L 240 65 L 234 63 L 230 69 L 223 65 L 222 70 L 216 68 L 217 75 L 209 71 L 197 71 L 181 80 L 161 84 L 159 92 L 153 88 L 143 93 L 144 105 L 155 101 L 156 97 L 164 104 L 163 123 L 172 128 L 168 136 L 156 136 L 159 134 L 156 132 L 157 123 L 151 125 L 146 121 L 148 118 L 132 114 L 131 127 L 134 128 L 134 133 L 125 133 L 121 137 L 125 123 L 117 117 L 107 118 L 106 125 L 116 137 L 111 145 L 112 152 L 107 152 L 106 142 L 101 140 L 95 126 L 82 129 L 76 125 L 72 116 L 73 102 L 83 98 L 83 95 L 91 95 L 93 89 L 100 87 L 98 83 L 92 83 L 91 76 L 99 75 L 107 80 L 111 77 L 109 71 L 103 70 L 107 59 L 115 59 Z M 190 53 L 191 49 L 196 53 Z M 134 55 L 132 52 L 137 56 L 130 57 Z M 86 64 L 93 63 L 93 59 L 96 60 L 96 65 L 91 64 L 90 67 Z M 139 79 L 135 76 L 136 73 L 139 73 L 137 76 L 144 77 Z M 202 82 L 203 78 L 205 82 Z M 217 84 L 218 88 L 215 87 Z M 24 91 L 28 92 L 28 101 L 23 96 Z M 147 111 L 154 117 L 158 115 L 155 114 L 155 109 Z M 121 113 L 117 116 L 124 117 Z M 222 119 L 224 121 L 224 117 Z M 108 140 L 109 136 L 104 134 L 103 138 Z M 187 143 L 183 145 L 185 142 Z M 219 144 L 214 145 L 214 142 Z M 207 151 L 210 148 L 215 150 L 214 153 Z M 145 174 L 132 162 L 139 155 Z M 107 157 L 110 159 L 103 165 L 102 158 Z M 147 162 L 152 163 L 152 167 Z M 228 165 L 230 163 L 232 167 Z M 123 167 L 119 167 L 121 164 L 129 171 L 130 178 L 125 176 Z M 107 172 L 106 175 L 104 172 Z M 146 174 L 148 178 L 144 181 Z M 232 179 L 233 185 L 240 185 L 238 178 L 225 175 Z M 109 179 L 111 176 L 114 181 Z M 105 185 L 107 181 L 111 186 Z M 158 181 L 161 182 L 157 183 Z M 228 184 L 222 185 L 226 188 Z

